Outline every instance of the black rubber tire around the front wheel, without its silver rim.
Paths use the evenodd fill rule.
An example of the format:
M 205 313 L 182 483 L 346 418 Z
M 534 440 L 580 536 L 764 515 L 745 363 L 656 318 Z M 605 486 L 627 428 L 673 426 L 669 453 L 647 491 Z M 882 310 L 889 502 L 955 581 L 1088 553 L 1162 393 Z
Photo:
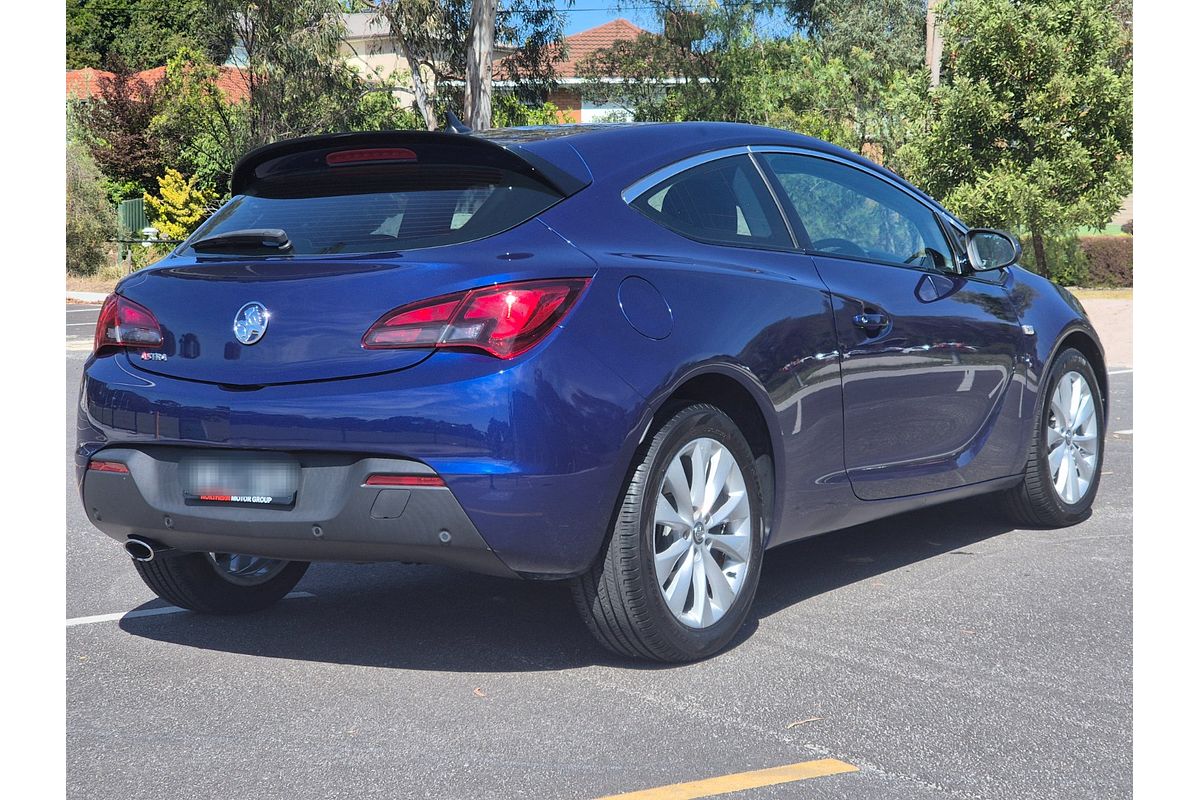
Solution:
M 1096 405 L 1096 469 L 1087 491 L 1075 503 L 1066 503 L 1055 491 L 1046 463 L 1049 443 L 1046 427 L 1050 421 L 1050 393 L 1068 372 L 1076 372 L 1087 381 Z M 1019 485 L 1001 495 L 1004 510 L 1013 522 L 1025 528 L 1066 528 L 1082 522 L 1092 510 L 1092 501 L 1100 486 L 1104 468 L 1105 408 L 1099 384 L 1091 362 L 1084 354 L 1068 348 L 1055 357 L 1038 398 L 1037 425 L 1027 449 L 1025 475 Z

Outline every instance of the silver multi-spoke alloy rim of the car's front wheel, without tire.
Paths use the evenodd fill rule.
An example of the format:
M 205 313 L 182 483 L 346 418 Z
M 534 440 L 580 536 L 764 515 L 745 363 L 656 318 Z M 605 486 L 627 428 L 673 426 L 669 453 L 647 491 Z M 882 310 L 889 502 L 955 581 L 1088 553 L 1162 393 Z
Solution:
M 1068 372 L 1050 395 L 1046 422 L 1046 463 L 1055 492 L 1074 505 L 1087 494 L 1096 476 L 1099 443 L 1096 438 L 1096 398 L 1087 379 Z

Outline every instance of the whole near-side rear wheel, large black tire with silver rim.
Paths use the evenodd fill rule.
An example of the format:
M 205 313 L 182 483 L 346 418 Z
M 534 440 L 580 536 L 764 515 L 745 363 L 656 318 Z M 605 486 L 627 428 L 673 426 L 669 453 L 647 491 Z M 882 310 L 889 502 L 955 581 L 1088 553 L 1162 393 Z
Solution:
M 696 515 L 701 517 L 700 530 L 696 525 L 689 529 L 688 524 L 696 522 L 694 505 L 686 513 L 673 509 L 683 507 L 677 495 L 686 492 L 673 493 L 670 487 L 680 486 L 680 476 L 688 479 L 688 487 L 695 483 L 690 476 L 696 470 L 685 461 L 697 458 L 707 464 L 707 476 L 720 474 L 728 456 L 740 480 L 731 467 L 724 488 L 701 500 L 701 509 L 708 511 Z M 660 510 L 660 498 L 667 512 Z M 638 451 L 612 531 L 595 564 L 571 581 L 575 604 L 588 630 L 612 652 L 632 658 L 689 662 L 725 648 L 745 622 L 758 585 L 762 510 L 754 455 L 737 425 L 713 405 L 695 404 L 673 411 Z M 672 521 L 670 524 L 659 523 L 656 517 L 664 513 Z M 684 535 L 685 530 L 691 533 Z M 672 555 L 676 551 L 680 555 Z M 672 559 L 673 569 L 668 566 Z M 662 583 L 656 561 L 667 576 Z M 700 576 L 697 565 L 704 566 Z M 686 588 L 685 573 L 690 576 Z M 718 585 L 715 581 L 720 579 L 726 583 Z M 702 597 L 696 593 L 697 581 L 704 587 Z M 721 587 L 733 593 L 732 602 Z M 668 589 L 680 606 L 677 610 L 668 606 Z M 680 601 L 683 591 L 686 594 Z

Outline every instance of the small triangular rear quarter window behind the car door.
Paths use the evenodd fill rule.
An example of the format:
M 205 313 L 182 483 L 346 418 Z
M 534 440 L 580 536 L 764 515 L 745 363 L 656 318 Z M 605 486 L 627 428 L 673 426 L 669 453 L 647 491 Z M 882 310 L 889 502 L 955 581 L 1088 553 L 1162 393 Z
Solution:
M 730 156 L 672 175 L 630 205 L 689 239 L 792 246 L 784 218 L 749 156 Z

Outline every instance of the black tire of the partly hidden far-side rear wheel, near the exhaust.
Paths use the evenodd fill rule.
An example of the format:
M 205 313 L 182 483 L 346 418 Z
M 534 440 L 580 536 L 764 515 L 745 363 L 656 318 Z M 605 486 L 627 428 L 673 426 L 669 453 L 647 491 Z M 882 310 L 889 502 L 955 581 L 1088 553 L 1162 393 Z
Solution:
M 221 577 L 206 553 L 160 553 L 134 561 L 150 590 L 173 606 L 202 614 L 245 614 L 274 606 L 295 588 L 307 561 L 288 561 L 263 583 L 238 584 Z

